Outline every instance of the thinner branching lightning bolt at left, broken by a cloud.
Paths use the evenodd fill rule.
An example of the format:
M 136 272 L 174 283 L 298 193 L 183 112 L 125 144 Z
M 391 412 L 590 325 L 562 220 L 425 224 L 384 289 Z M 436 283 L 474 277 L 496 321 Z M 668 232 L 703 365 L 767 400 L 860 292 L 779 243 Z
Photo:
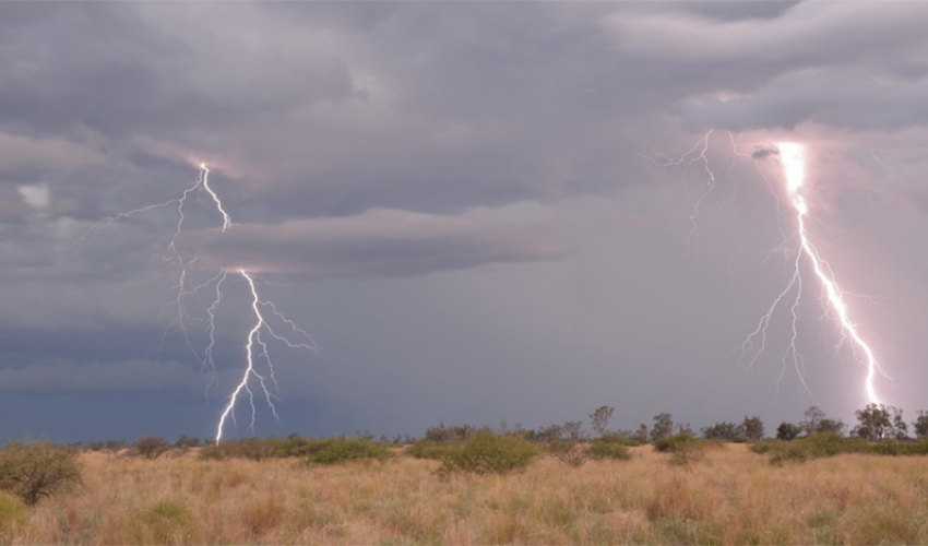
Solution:
M 119 219 L 154 211 L 157 209 L 164 209 L 170 205 L 176 205 L 178 219 L 175 226 L 174 235 L 171 236 L 167 245 L 167 249 L 170 252 L 170 257 L 166 260 L 168 262 L 180 265 L 181 271 L 178 283 L 175 285 L 177 295 L 175 297 L 172 307 L 175 308 L 176 316 L 165 328 L 165 332 L 162 336 L 162 345 L 164 345 L 168 330 L 170 330 L 170 328 L 174 325 L 178 325 L 182 332 L 183 340 L 187 346 L 200 360 L 203 370 L 210 372 L 210 385 L 213 385 L 217 382 L 216 365 L 214 361 L 214 355 L 217 343 L 216 314 L 218 307 L 223 301 L 224 285 L 230 274 L 236 274 L 240 276 L 248 284 L 251 300 L 250 314 L 254 318 L 254 322 L 248 332 L 246 343 L 243 345 L 246 360 L 245 372 L 241 376 L 241 380 L 237 383 L 235 390 L 233 390 L 231 394 L 229 395 L 228 402 L 223 407 L 223 411 L 219 415 L 219 422 L 216 427 L 216 442 L 218 443 L 223 438 L 223 430 L 226 426 L 226 423 L 228 420 L 235 423 L 235 408 L 236 404 L 238 403 L 238 400 L 241 396 L 248 397 L 248 402 L 251 408 L 251 423 L 249 425 L 249 428 L 254 427 L 257 417 L 257 407 L 254 405 L 254 392 L 252 391 L 252 384 L 254 383 L 257 383 L 257 385 L 260 388 L 260 393 L 264 396 L 269 410 L 274 415 L 274 417 L 277 418 L 277 411 L 274 407 L 274 399 L 276 399 L 274 392 L 277 391 L 277 380 L 274 377 L 274 365 L 271 360 L 271 354 L 267 347 L 267 343 L 270 340 L 267 340 L 266 337 L 270 337 L 290 348 L 307 349 L 311 352 L 316 351 L 316 344 L 309 333 L 298 328 L 293 321 L 290 321 L 283 313 L 281 313 L 272 301 L 261 299 L 258 293 L 258 287 L 254 282 L 254 276 L 245 269 L 239 268 L 236 270 L 223 270 L 219 271 L 213 277 L 206 280 L 205 282 L 195 286 L 188 287 L 188 268 L 194 262 L 197 262 L 197 258 L 185 261 L 182 254 L 178 250 L 177 241 L 180 238 L 181 232 L 183 229 L 183 223 L 187 219 L 185 215 L 185 205 L 187 204 L 187 200 L 188 198 L 190 198 L 191 194 L 194 194 L 199 191 L 203 191 L 210 197 L 210 200 L 215 205 L 216 211 L 222 215 L 223 225 L 221 232 L 225 233 L 228 228 L 233 227 L 235 224 L 233 224 L 231 217 L 223 207 L 223 203 L 219 200 L 218 194 L 210 187 L 210 169 L 206 168 L 205 164 L 201 164 L 200 176 L 197 179 L 197 182 L 193 186 L 183 190 L 183 193 L 180 198 L 165 201 L 164 203 L 146 205 L 141 209 L 135 209 L 129 212 L 119 213 L 116 216 L 104 218 L 97 222 L 94 226 L 92 226 L 71 246 L 73 247 L 78 242 L 84 240 L 92 233 L 103 227 L 106 227 L 107 225 Z M 188 323 L 191 321 L 199 321 L 200 319 L 197 319 L 195 317 L 192 317 L 190 314 L 186 300 L 187 298 L 210 288 L 212 288 L 213 290 L 212 300 L 210 305 L 203 310 L 203 312 L 205 313 L 205 319 L 203 320 L 206 324 L 205 331 L 209 337 L 209 343 L 206 344 L 201 355 L 201 353 L 195 348 L 193 342 L 190 340 L 190 334 L 188 332 Z M 288 334 L 278 334 L 267 322 L 269 318 L 272 318 L 275 322 L 288 329 Z M 304 341 L 293 341 L 293 339 L 296 337 L 299 337 Z M 266 369 L 266 371 L 259 371 L 260 367 L 263 367 L 263 369 Z

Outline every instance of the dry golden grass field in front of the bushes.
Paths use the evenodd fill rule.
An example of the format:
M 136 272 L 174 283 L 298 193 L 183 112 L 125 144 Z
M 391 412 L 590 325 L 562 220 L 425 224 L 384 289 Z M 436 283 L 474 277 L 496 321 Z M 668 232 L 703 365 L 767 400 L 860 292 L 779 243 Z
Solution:
M 83 485 L 40 501 L 12 544 L 928 544 L 928 459 L 772 466 L 743 444 L 690 467 L 651 447 L 503 476 L 438 462 L 307 467 L 84 453 Z

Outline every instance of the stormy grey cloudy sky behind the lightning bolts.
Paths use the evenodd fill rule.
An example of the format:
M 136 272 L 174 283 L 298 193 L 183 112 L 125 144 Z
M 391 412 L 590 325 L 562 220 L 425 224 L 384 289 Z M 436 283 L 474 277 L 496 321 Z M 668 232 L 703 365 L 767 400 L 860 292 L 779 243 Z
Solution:
M 226 437 L 602 405 L 614 429 L 853 424 L 866 369 L 808 260 L 750 337 L 796 268 L 780 142 L 806 146 L 809 236 L 913 420 L 925 21 L 917 1 L 0 2 L 0 439 L 214 437 L 255 321 L 241 269 L 312 349 L 264 334 L 276 417 L 239 399 Z

